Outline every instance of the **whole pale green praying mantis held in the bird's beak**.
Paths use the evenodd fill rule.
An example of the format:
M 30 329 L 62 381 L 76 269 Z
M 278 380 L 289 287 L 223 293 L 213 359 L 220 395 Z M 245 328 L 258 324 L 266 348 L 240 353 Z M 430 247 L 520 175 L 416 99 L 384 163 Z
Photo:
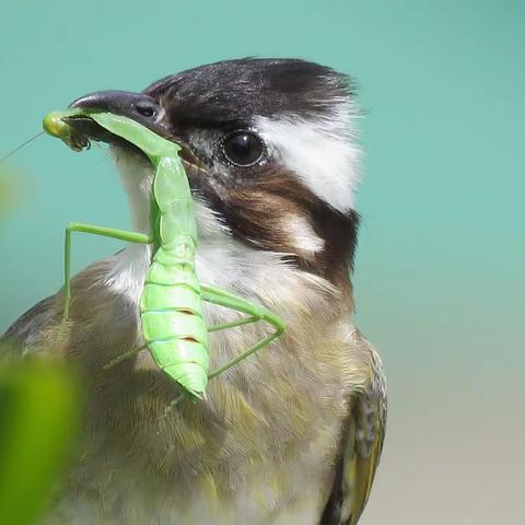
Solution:
M 69 317 L 71 299 L 71 234 L 84 232 L 130 243 L 152 245 L 153 256 L 140 298 L 140 318 L 144 346 L 131 349 L 109 365 L 148 348 L 159 368 L 176 382 L 190 399 L 205 397 L 208 381 L 269 345 L 284 330 L 284 323 L 267 308 L 223 290 L 201 284 L 195 271 L 197 226 L 189 183 L 178 156 L 180 147 L 135 120 L 89 109 L 54 112 L 44 118 L 44 129 L 62 139 L 71 149 L 89 147 L 67 124 L 71 117 L 91 118 L 109 132 L 139 148 L 155 168 L 151 197 L 151 233 L 145 235 L 90 224 L 70 223 L 66 229 L 63 320 Z M 235 310 L 243 315 L 231 323 L 207 326 L 202 302 Z M 211 331 L 265 320 L 275 331 L 240 353 L 238 357 L 209 372 Z

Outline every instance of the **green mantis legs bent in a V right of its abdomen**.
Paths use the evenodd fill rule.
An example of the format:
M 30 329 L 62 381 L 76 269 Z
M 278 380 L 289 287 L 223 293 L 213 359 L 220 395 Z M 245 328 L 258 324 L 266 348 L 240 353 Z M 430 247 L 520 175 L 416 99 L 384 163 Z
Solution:
M 241 361 L 249 358 L 249 355 L 255 353 L 257 350 L 260 350 L 261 348 L 269 345 L 271 341 L 273 341 L 273 339 L 277 339 L 284 331 L 284 322 L 279 316 L 265 308 L 264 306 L 250 303 L 249 301 L 246 301 L 245 299 L 240 298 L 233 293 L 225 292 L 224 290 L 219 290 L 217 288 L 211 288 L 208 285 L 202 285 L 201 288 L 202 301 L 207 301 L 208 303 L 212 304 L 219 304 L 220 306 L 225 306 L 237 312 L 242 312 L 243 314 L 247 314 L 249 316 L 243 317 L 242 319 L 238 319 L 236 322 L 215 325 L 214 327 L 210 327 L 211 329 L 209 329 L 209 331 L 232 328 L 233 326 L 256 323 L 258 320 L 265 320 L 275 328 L 275 331 L 272 334 L 268 334 L 265 338 L 249 347 L 246 351 L 211 372 L 208 378 L 211 380 L 213 377 L 217 377 L 228 369 L 235 366 Z

